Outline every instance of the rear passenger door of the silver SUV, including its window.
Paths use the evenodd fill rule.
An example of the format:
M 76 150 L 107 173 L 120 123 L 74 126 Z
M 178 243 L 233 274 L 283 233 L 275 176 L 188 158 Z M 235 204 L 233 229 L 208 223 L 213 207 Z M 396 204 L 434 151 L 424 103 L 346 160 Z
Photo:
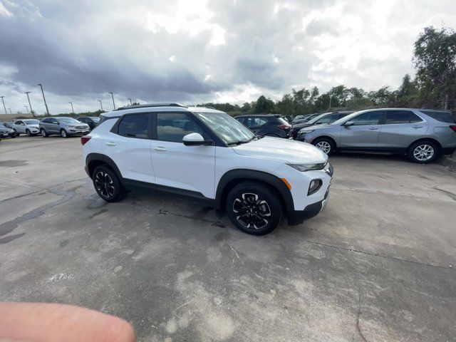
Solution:
M 380 125 L 379 148 L 405 148 L 423 137 L 428 123 L 411 110 L 386 110 Z

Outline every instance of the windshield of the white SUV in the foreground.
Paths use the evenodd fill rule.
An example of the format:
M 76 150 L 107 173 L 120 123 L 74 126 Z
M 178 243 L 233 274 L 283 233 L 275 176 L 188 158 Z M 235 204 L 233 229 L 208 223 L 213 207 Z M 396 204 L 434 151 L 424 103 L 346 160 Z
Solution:
M 195 113 L 227 145 L 255 138 L 249 128 L 225 113 Z

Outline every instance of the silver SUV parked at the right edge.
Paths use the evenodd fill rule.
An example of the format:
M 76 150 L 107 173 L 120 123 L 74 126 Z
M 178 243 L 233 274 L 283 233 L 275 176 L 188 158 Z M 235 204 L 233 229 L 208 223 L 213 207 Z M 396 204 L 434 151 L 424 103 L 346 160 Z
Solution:
M 455 118 L 444 110 L 361 110 L 300 134 L 328 155 L 338 150 L 399 152 L 424 164 L 456 150 Z

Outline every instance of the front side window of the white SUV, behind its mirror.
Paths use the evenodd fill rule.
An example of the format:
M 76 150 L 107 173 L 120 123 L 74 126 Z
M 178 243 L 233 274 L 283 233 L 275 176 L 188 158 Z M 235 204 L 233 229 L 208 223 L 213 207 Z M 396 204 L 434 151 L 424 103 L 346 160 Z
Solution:
M 207 138 L 194 118 L 185 113 L 157 113 L 157 140 L 182 142 L 185 135 L 199 133 Z

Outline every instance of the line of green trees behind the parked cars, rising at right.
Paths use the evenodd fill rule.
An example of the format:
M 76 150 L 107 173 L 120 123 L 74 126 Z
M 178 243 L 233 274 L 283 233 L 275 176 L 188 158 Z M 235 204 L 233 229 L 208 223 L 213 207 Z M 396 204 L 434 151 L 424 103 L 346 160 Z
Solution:
M 413 45 L 416 74 L 403 76 L 398 89 L 384 86 L 378 90 L 336 86 L 321 93 L 317 87 L 293 89 L 280 100 L 261 95 L 243 105 L 202 103 L 233 115 L 241 113 L 280 113 L 302 115 L 343 108 L 361 110 L 379 107 L 456 108 L 456 33 L 452 28 L 424 28 Z

